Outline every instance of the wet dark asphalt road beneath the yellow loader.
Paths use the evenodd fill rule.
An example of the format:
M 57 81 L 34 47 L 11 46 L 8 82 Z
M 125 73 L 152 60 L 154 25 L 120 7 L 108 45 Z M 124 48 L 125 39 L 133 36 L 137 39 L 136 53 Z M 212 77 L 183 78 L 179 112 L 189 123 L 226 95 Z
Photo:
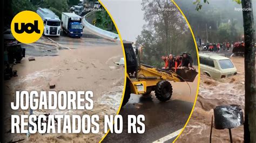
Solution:
M 109 133 L 103 142 L 153 142 L 183 128 L 193 103 L 172 99 L 168 102 L 159 102 L 153 92 L 151 94 L 152 98 L 132 94 L 129 102 L 119 113 L 123 116 L 123 132 Z M 145 133 L 128 134 L 127 115 L 144 115 Z M 172 142 L 176 137 L 166 142 Z

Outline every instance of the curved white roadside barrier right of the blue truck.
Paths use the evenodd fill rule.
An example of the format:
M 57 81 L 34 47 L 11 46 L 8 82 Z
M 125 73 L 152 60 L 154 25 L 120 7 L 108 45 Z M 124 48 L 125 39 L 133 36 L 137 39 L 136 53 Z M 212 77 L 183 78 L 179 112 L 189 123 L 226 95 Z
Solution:
M 106 31 L 106 30 L 103 30 L 103 29 L 101 29 L 101 28 L 99 28 L 99 27 L 96 27 L 96 26 L 94 26 L 94 25 L 92 25 L 92 24 L 89 23 L 89 22 L 91 22 L 91 21 L 90 21 L 91 19 L 88 19 L 88 17 L 92 16 L 95 12 L 96 12 L 96 11 L 91 11 L 91 12 L 87 13 L 87 14 L 84 16 L 83 20 L 84 20 L 85 26 L 86 26 L 87 28 L 90 28 L 90 30 L 92 30 L 92 31 L 94 31 L 94 32 L 97 32 L 97 33 L 99 33 L 99 34 L 101 34 L 101 35 L 104 35 L 104 36 L 109 37 L 109 38 L 113 38 L 113 39 L 120 40 L 118 34 L 113 33 L 113 32 L 109 32 L 109 31 Z M 87 20 L 88 20 L 89 22 L 87 22 Z

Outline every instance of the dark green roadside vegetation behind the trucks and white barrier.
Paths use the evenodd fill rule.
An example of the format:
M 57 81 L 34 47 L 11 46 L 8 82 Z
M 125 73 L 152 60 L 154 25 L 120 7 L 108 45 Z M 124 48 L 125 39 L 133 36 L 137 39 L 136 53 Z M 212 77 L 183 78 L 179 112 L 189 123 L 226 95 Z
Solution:
M 95 1 L 96 0 L 90 0 L 89 2 L 94 3 Z M 58 17 L 61 17 L 62 12 L 68 12 L 72 5 L 77 5 L 79 3 L 79 0 L 9 0 L 6 1 L 6 3 L 11 5 L 10 7 L 5 8 L 6 11 L 10 11 L 10 13 L 6 13 L 5 15 L 5 26 L 9 26 L 12 18 L 21 11 L 31 10 L 36 12 L 39 7 L 48 8 L 56 13 Z M 102 28 L 103 30 L 117 33 L 116 27 L 105 9 L 96 12 L 95 26 Z

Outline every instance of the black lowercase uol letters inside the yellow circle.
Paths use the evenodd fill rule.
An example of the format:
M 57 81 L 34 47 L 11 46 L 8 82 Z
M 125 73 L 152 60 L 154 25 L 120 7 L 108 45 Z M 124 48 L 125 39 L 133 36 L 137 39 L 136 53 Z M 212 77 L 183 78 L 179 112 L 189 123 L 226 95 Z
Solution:
M 18 34 L 21 34 L 23 32 L 26 32 L 26 33 L 33 33 L 33 32 L 36 32 L 38 34 L 40 34 L 40 30 L 38 29 L 38 20 L 34 20 L 34 24 L 32 23 L 21 23 L 21 29 L 19 29 L 19 24 L 18 23 L 15 23 L 14 24 L 14 30 L 16 33 Z

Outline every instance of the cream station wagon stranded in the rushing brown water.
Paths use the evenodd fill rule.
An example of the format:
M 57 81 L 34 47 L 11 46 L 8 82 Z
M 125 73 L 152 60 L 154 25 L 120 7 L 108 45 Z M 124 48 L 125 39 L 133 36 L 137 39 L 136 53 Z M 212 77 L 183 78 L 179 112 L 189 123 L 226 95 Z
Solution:
M 233 62 L 218 53 L 199 52 L 200 72 L 214 79 L 236 75 Z

